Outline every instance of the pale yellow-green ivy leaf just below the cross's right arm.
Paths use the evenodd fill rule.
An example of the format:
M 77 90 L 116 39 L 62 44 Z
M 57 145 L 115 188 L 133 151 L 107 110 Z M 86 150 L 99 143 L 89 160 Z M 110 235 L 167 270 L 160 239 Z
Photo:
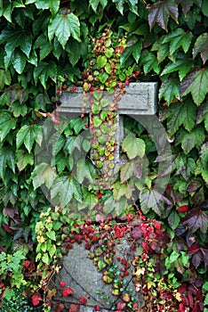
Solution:
M 136 138 L 136 136 L 133 134 L 129 134 L 124 138 L 122 148 L 124 152 L 127 153 L 127 156 L 130 160 L 136 156 L 140 156 L 140 158 L 142 158 L 145 154 L 144 141 L 140 138 Z

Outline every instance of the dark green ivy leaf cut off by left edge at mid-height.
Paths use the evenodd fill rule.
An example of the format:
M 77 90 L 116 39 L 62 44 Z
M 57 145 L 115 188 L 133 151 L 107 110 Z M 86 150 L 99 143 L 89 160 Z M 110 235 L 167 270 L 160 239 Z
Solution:
M 15 173 L 15 157 L 12 146 L 4 146 L 0 150 L 0 177 L 4 179 L 5 168 L 9 167 Z

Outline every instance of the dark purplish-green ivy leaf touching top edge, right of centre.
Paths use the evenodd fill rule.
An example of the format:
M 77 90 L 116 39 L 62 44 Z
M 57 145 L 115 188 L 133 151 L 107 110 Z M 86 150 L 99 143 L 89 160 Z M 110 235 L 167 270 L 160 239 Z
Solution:
M 178 22 L 178 6 L 174 0 L 158 1 L 150 7 L 148 14 L 148 24 L 150 29 L 157 22 L 160 27 L 167 31 L 167 24 L 170 16 L 176 22 Z

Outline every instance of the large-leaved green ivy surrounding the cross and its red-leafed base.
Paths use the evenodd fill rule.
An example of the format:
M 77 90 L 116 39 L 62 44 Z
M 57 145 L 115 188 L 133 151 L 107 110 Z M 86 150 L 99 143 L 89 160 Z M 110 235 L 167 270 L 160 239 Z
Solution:
M 92 211 L 96 207 L 108 214 L 113 207 L 119 214 L 116 207 L 122 205 L 132 214 L 137 215 L 139 209 L 145 218 L 160 220 L 169 235 L 166 269 L 177 278 L 179 275 L 186 307 L 195 312 L 203 308 L 206 311 L 206 1 L 2 0 L 0 19 L 0 287 L 5 297 L 4 311 L 7 306 L 11 307 L 7 301 L 12 301 L 17 294 L 22 296 L 19 291 L 22 287 L 25 296 L 36 293 L 35 283 L 39 283 L 41 269 L 51 265 L 54 255 L 61 254 L 59 243 L 56 246 L 52 242 L 56 240 L 56 233 L 60 231 L 59 237 L 64 233 L 60 223 L 64 225 L 65 219 L 57 217 L 53 229 L 48 228 L 47 247 L 42 246 L 43 229 L 38 227 L 38 222 L 41 212 L 52 206 L 41 188 L 44 184 L 52 189 L 52 198 L 58 196 L 63 209 L 68 206 L 66 198 L 70 198 L 73 208 L 82 214 L 84 207 L 80 202 L 84 199 Z M 70 158 L 81 145 L 85 152 L 90 148 L 84 143 L 84 138 L 83 142 L 76 140 L 86 128 L 88 117 L 72 119 L 60 127 L 53 111 L 61 104 L 61 88 L 69 88 L 70 84 L 80 85 L 83 81 L 89 83 L 87 76 L 83 75 L 90 70 L 92 53 L 89 53 L 89 39 L 100 37 L 105 29 L 112 29 L 118 40 L 125 38 L 124 51 L 116 68 L 119 80 L 128 84 L 126 77 L 131 77 L 134 81 L 158 82 L 158 118 L 168 134 L 172 155 L 163 153 L 163 150 L 157 154 L 148 131 L 136 120 L 125 117 L 124 125 L 132 136 L 126 136 L 123 150 L 126 152 L 124 158 L 130 161 L 121 168 L 113 189 L 100 191 L 96 187 L 81 185 L 83 175 L 92 180 L 96 178 L 91 161 L 80 160 L 79 172 L 76 172 L 79 183 L 70 175 L 72 161 L 67 161 L 67 157 Z M 102 69 L 106 63 L 98 63 L 98 66 Z M 137 72 L 134 77 L 133 70 Z M 101 74 L 99 84 L 106 86 L 109 69 Z M 94 109 L 96 111 L 96 107 Z M 52 151 L 58 177 L 47 163 L 36 165 L 35 161 L 36 146 L 47 142 L 43 127 L 45 119 L 52 120 L 52 127 L 59 127 L 58 144 Z M 136 157 L 141 149 L 145 149 L 147 159 L 144 161 L 148 161 L 147 177 L 143 180 L 144 172 L 138 167 Z M 143 156 L 141 152 L 140 159 Z M 71 159 L 78 162 L 77 157 L 76 152 Z M 158 177 L 158 166 L 167 159 L 171 163 L 171 177 L 160 202 L 149 204 Z M 135 192 L 140 193 L 136 202 Z M 118 202 L 117 206 L 115 202 Z M 93 213 L 91 217 L 94 217 Z M 137 232 L 132 235 L 135 239 L 142 236 Z M 61 239 L 57 241 L 61 242 Z M 37 271 L 36 263 L 28 260 L 34 258 L 42 261 Z M 31 278 L 35 272 L 36 278 Z M 190 284 L 194 288 L 188 288 Z M 36 296 L 33 303 L 38 305 L 40 294 Z M 20 299 L 20 308 L 24 311 L 30 310 L 26 303 L 29 300 L 31 297 L 28 301 Z M 169 310 L 174 311 L 172 308 Z

